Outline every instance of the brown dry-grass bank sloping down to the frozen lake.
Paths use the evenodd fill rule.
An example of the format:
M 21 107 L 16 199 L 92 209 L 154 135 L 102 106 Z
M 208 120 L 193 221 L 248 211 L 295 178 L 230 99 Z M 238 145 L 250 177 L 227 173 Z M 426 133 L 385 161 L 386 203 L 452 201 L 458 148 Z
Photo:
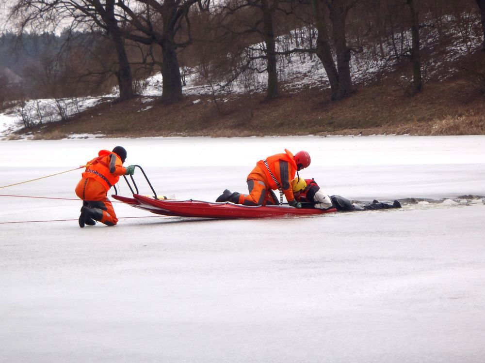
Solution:
M 460 79 L 429 83 L 414 97 L 396 86 L 379 85 L 357 89 L 338 102 L 328 101 L 328 92 L 319 90 L 262 99 L 245 95 L 216 105 L 208 96 L 188 96 L 171 105 L 157 99 L 143 103 L 141 98 L 105 103 L 70 121 L 44 125 L 35 137 L 485 134 L 485 97 L 471 93 Z

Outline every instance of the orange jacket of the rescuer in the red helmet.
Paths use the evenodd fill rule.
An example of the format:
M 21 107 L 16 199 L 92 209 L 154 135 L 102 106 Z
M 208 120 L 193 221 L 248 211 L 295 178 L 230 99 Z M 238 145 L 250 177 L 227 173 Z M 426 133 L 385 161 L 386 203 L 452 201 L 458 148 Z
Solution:
M 271 173 L 268 170 L 268 167 L 266 167 L 264 161 L 266 161 L 266 164 L 271 170 Z M 293 190 L 291 189 L 290 181 L 295 177 L 297 168 L 298 167 L 296 166 L 293 154 L 285 149 L 285 153 L 268 156 L 266 159 L 259 160 L 259 162 L 256 163 L 256 167 L 253 169 L 251 174 L 249 174 L 248 179 L 252 179 L 251 175 L 264 174 L 264 182 L 266 183 L 266 185 L 268 185 L 273 190 L 281 188 L 286 197 L 286 200 L 288 200 L 288 202 L 291 202 L 294 199 L 294 196 Z M 271 174 L 273 174 L 277 183 L 273 179 Z

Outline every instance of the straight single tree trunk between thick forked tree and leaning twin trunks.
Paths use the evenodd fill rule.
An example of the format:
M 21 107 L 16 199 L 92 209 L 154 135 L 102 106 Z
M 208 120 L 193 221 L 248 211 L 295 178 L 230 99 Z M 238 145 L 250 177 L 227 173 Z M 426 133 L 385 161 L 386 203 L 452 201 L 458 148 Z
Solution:
M 276 42 L 273 31 L 273 14 L 268 6 L 268 0 L 261 0 L 263 13 L 263 38 L 266 44 L 266 69 L 268 73 L 268 89 L 266 99 L 270 100 L 278 95 L 278 73 L 276 69 Z

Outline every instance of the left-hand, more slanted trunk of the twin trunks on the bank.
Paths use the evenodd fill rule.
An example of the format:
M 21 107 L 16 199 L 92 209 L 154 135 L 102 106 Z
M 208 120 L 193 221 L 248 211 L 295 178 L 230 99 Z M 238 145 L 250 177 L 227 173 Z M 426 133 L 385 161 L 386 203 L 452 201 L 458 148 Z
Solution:
M 315 19 L 315 27 L 318 30 L 317 35 L 317 57 L 322 61 L 323 68 L 328 77 L 330 83 L 330 98 L 337 100 L 339 95 L 339 73 L 332 57 L 332 48 L 328 40 L 327 24 L 322 14 L 322 8 L 320 7 L 321 0 L 311 0 L 313 8 L 313 15 Z

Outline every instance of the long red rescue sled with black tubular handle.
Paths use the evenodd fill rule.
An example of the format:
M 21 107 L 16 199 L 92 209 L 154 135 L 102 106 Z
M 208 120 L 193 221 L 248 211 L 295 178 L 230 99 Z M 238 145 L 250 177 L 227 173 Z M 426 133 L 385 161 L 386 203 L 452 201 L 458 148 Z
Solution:
M 138 193 L 138 187 L 131 176 L 131 181 L 135 187 L 136 192 L 133 191 L 128 179 L 125 176 L 125 180 L 133 193 L 133 197 L 123 197 L 118 195 L 116 188 L 114 189 L 116 194 L 112 197 L 123 203 L 129 204 L 132 207 L 143 209 L 148 212 L 162 215 L 170 215 L 176 217 L 198 217 L 198 218 L 267 218 L 267 217 L 286 217 L 286 216 L 305 216 L 316 215 L 337 212 L 336 209 L 313 209 L 303 208 L 297 209 L 290 206 L 243 206 L 239 204 L 224 202 L 204 202 L 201 200 L 167 200 L 159 199 L 157 193 L 153 189 L 150 181 L 146 177 L 145 171 L 141 166 L 135 165 L 140 168 L 141 172 L 145 176 L 148 185 L 150 186 L 154 196 L 143 196 Z

